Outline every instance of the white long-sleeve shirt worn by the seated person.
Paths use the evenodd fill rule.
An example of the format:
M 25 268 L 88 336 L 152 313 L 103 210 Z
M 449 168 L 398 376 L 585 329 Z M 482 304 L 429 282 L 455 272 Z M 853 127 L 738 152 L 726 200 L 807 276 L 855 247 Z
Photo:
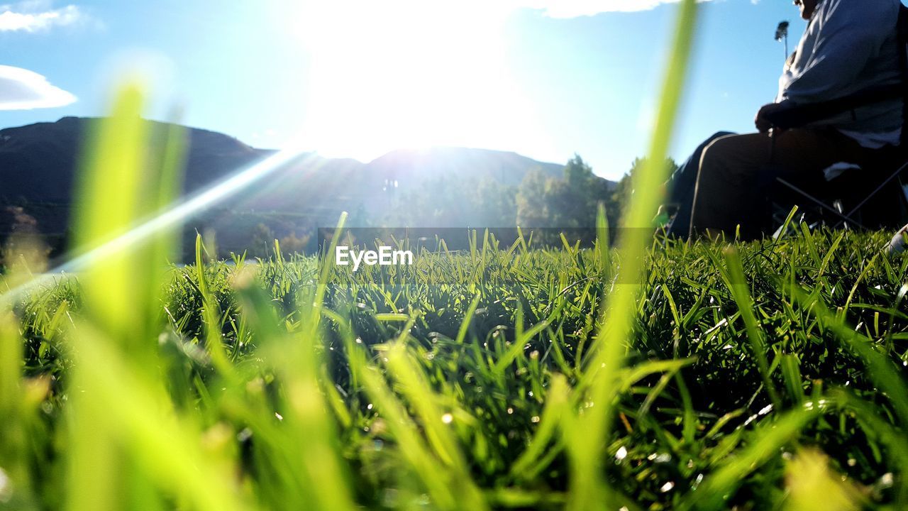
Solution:
M 820 0 L 779 78 L 777 103 L 828 101 L 900 80 L 899 0 Z M 831 126 L 861 145 L 898 145 L 902 100 L 862 106 L 814 125 Z

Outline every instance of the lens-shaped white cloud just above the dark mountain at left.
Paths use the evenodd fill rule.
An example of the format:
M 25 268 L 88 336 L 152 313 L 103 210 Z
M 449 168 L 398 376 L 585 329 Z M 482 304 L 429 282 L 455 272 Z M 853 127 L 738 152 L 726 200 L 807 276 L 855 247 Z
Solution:
M 0 65 L 0 110 L 53 108 L 75 103 L 74 95 L 34 71 Z

